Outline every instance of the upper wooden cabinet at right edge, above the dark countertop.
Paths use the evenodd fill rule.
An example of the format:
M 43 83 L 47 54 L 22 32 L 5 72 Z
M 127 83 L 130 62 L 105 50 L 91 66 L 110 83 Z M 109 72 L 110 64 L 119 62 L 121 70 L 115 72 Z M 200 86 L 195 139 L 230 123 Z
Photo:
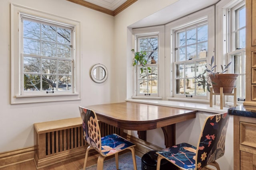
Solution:
M 256 0 L 246 0 L 246 100 L 256 106 Z

